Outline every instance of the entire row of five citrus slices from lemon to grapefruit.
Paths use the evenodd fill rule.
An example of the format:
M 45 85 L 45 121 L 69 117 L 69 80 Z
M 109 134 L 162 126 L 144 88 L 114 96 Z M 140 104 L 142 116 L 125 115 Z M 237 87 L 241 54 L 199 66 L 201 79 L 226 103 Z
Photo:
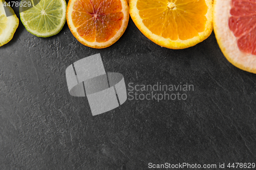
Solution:
M 13 15 L 6 17 L 0 2 L 0 46 L 12 39 L 18 27 L 13 10 L 5 10 Z M 30 33 L 56 35 L 67 18 L 75 38 L 93 48 L 115 43 L 129 15 L 148 39 L 172 49 L 202 42 L 214 27 L 228 61 L 256 74 L 256 0 L 130 0 L 129 6 L 125 0 L 70 0 L 68 7 L 64 0 L 41 0 L 33 8 L 19 10 Z

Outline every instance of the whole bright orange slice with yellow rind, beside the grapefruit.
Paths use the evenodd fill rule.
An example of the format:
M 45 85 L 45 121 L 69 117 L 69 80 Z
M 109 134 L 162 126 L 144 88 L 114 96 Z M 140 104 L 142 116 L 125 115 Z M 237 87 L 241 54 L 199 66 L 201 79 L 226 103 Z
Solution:
M 212 32 L 212 0 L 130 0 L 138 29 L 158 45 L 182 49 Z

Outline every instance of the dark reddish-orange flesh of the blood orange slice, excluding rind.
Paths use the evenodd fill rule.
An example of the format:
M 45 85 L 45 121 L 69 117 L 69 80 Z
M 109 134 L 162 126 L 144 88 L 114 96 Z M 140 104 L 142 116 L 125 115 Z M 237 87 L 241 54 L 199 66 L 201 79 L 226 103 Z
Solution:
M 122 26 L 122 4 L 119 0 L 78 0 L 72 12 L 77 33 L 89 42 L 106 42 Z

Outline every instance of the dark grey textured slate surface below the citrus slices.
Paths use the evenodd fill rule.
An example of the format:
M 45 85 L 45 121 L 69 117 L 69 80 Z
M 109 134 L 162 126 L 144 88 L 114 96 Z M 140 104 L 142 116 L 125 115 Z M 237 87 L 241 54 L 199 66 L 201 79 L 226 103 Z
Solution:
M 67 23 L 50 38 L 22 23 L 0 47 L 0 169 L 147 169 L 148 163 L 256 162 L 256 75 L 231 65 L 214 33 L 170 50 L 130 19 L 112 46 L 80 44 Z M 134 84 L 193 84 L 185 101 L 127 100 L 92 116 L 69 95 L 65 70 L 100 53 L 106 71 Z

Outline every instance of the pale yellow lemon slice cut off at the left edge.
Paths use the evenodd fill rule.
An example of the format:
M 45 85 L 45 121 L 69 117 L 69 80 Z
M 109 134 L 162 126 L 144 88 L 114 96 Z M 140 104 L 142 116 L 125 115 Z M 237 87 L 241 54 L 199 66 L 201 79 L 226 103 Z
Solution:
M 5 1 L 0 1 L 0 46 L 8 43 L 12 39 L 16 29 L 18 28 L 17 16 L 15 15 L 11 7 L 6 6 L 4 8 L 4 2 Z M 6 12 L 12 15 L 7 17 Z

